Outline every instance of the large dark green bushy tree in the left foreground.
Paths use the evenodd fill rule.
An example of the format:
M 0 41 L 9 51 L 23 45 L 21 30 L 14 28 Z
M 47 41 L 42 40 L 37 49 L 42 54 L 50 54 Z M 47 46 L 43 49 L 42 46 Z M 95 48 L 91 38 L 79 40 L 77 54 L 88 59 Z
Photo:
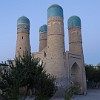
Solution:
M 39 58 L 25 53 L 15 59 L 15 65 L 11 61 L 9 66 L 10 71 L 2 73 L 0 82 L 2 96 L 7 100 L 18 100 L 22 88 L 25 88 L 24 97 L 32 91 L 36 99 L 50 98 L 55 93 L 55 77 L 46 73 Z

